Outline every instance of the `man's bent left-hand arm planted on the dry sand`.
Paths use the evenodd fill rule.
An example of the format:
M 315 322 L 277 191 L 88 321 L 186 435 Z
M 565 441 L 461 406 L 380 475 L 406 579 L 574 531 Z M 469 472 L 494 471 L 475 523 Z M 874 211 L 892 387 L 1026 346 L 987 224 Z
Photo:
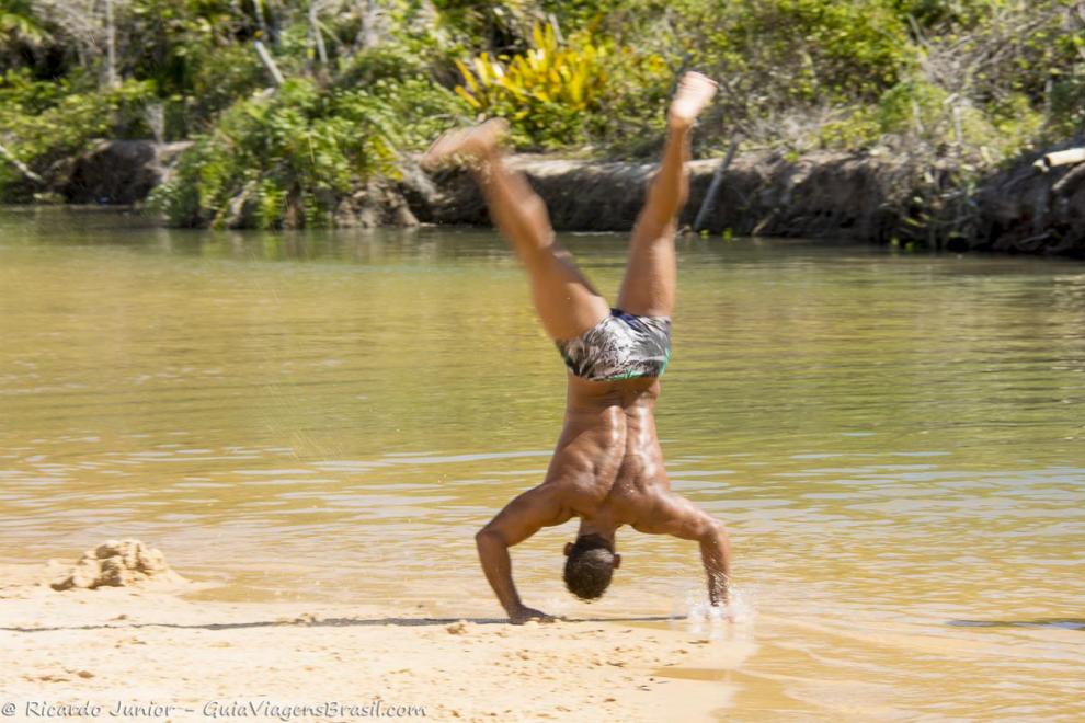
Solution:
M 539 485 L 521 494 L 505 505 L 475 536 L 479 548 L 482 572 L 490 582 L 501 607 L 509 615 L 510 622 L 519 624 L 532 619 L 547 619 L 545 612 L 534 610 L 523 604 L 512 577 L 512 560 L 509 548 L 519 544 L 542 527 L 560 525 L 571 517 L 558 501 L 552 485 Z

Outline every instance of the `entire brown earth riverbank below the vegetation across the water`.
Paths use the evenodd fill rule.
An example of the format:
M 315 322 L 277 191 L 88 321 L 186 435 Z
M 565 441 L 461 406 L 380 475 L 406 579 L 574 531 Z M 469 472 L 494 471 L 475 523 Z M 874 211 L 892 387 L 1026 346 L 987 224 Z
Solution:
M 57 197 L 140 203 L 169 179 L 183 146 L 100 144 L 73 163 Z M 712 236 L 843 238 L 957 252 L 1085 257 L 1085 165 L 1041 169 L 1037 162 L 1042 157 L 1023 157 L 986 174 L 973 171 L 966 182 L 949 161 L 928 168 L 888 149 L 797 158 L 777 151 L 740 153 L 726 165 L 711 198 L 723 161 L 697 160 L 689 164 L 689 200 L 681 221 Z M 514 156 L 511 162 L 530 179 L 555 228 L 564 231 L 629 230 L 655 169 L 654 163 L 529 154 Z M 226 226 L 251 226 L 253 203 L 237 198 Z M 429 176 L 409 160 L 399 181 L 372 183 L 341 198 L 333 221 L 340 227 L 488 226 L 489 216 L 466 173 Z

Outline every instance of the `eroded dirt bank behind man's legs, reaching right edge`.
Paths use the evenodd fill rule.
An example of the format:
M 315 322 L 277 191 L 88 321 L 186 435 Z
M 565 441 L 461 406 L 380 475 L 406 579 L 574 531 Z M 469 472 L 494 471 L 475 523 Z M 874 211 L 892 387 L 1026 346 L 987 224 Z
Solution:
M 990 250 L 1085 257 L 1085 164 L 1038 171 L 1039 154 L 997 172 L 972 194 L 953 187 L 950 164 L 920 169 L 889 154 L 779 153 L 736 157 L 698 229 L 735 236 L 922 242 L 953 251 Z M 547 203 L 555 228 L 628 230 L 653 164 L 517 157 Z M 693 161 L 681 222 L 693 227 L 720 161 Z M 488 223 L 464 173 L 444 173 L 407 196 L 422 221 Z

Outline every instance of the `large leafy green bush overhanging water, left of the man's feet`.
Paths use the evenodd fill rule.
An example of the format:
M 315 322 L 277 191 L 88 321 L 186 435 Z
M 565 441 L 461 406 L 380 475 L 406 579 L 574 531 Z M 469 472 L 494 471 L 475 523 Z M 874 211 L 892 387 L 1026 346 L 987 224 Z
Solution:
M 370 177 L 396 177 L 399 149 L 431 139 L 460 107 L 420 79 L 372 91 L 292 79 L 227 110 L 150 203 L 178 226 L 327 226 L 341 198 Z M 403 123 L 409 113 L 426 117 Z

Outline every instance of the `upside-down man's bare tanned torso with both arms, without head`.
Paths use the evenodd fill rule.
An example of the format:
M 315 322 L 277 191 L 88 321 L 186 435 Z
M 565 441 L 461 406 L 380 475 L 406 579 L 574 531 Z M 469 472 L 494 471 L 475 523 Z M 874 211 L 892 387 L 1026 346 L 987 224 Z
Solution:
M 487 579 L 511 621 L 547 616 L 519 599 L 509 548 L 572 517 L 580 518 L 578 540 L 602 540 L 614 567 L 620 562 L 615 531 L 624 525 L 696 540 L 710 601 L 727 600 L 727 535 L 704 510 L 670 491 L 653 416 L 659 392 L 658 379 L 592 382 L 569 376 L 566 422 L 545 480 L 517 495 L 475 536 Z M 573 543 L 566 546 L 570 560 L 574 550 Z

